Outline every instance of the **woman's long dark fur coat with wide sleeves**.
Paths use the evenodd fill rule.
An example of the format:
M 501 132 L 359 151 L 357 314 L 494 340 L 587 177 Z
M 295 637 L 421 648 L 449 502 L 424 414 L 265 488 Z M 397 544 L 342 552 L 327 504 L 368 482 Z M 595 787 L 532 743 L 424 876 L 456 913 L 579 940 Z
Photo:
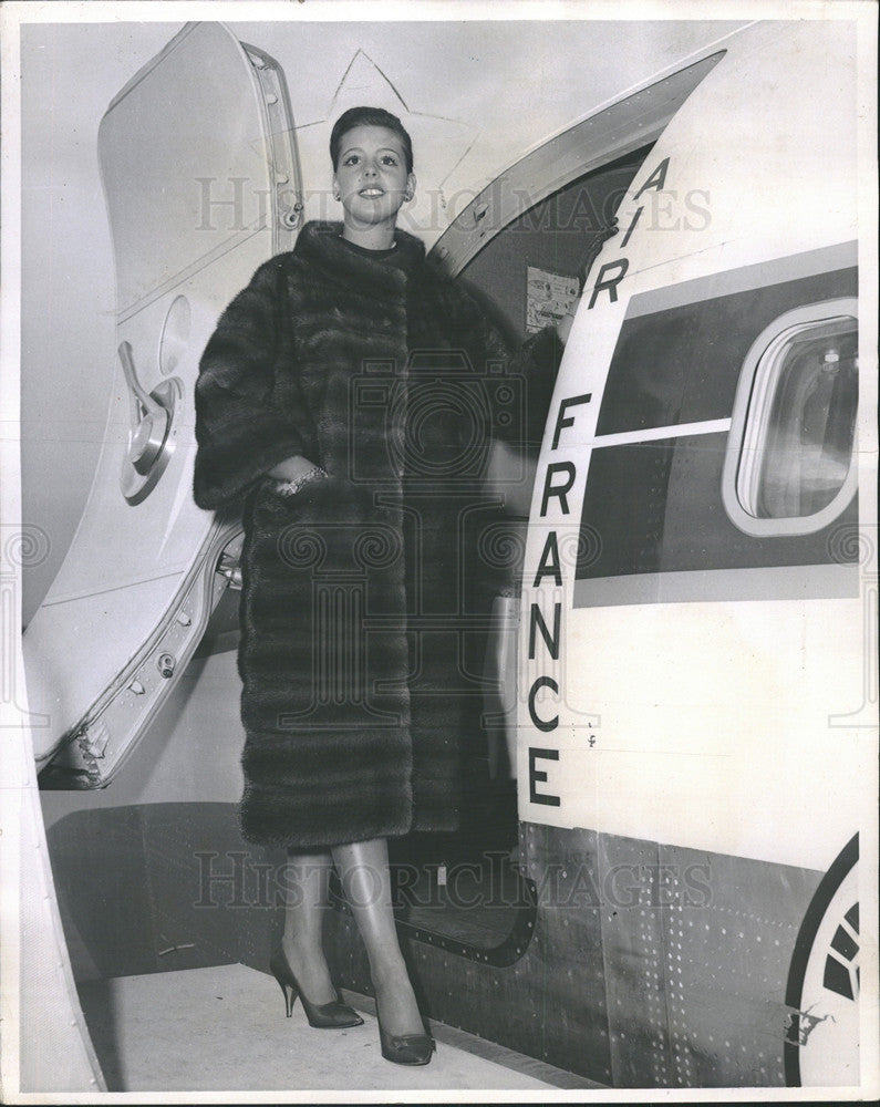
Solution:
M 242 832 L 302 849 L 458 824 L 506 571 L 489 443 L 539 437 L 560 353 L 510 359 L 412 236 L 340 231 L 258 269 L 196 385 L 196 501 L 244 508 Z M 293 454 L 329 479 L 283 497 Z

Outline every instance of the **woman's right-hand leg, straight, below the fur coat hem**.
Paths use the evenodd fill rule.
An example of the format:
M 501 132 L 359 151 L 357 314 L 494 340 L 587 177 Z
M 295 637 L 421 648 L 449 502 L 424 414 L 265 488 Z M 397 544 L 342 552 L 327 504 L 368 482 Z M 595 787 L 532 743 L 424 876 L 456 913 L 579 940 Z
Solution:
M 394 927 L 387 842 L 373 838 L 334 846 L 333 860 L 366 946 L 382 1026 L 393 1035 L 424 1034 Z

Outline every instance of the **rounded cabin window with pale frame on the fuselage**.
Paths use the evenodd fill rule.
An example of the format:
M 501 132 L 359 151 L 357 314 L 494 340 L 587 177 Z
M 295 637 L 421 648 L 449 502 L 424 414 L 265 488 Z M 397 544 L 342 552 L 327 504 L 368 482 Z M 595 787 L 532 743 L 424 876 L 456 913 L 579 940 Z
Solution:
M 741 530 L 810 534 L 856 488 L 858 322 L 855 300 L 786 312 L 743 368 L 725 466 L 724 501 Z

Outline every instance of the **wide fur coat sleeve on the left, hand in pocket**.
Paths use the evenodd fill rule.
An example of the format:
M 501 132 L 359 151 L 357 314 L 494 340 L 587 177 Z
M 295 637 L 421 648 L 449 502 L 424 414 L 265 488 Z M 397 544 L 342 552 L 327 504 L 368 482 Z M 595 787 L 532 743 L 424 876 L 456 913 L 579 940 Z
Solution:
M 277 368 L 290 363 L 292 343 L 284 278 L 273 259 L 224 311 L 201 358 L 193 489 L 199 507 L 237 501 L 272 466 L 303 453 L 291 416 L 297 405 L 279 403 L 278 394 Z M 283 386 L 291 383 L 283 374 Z

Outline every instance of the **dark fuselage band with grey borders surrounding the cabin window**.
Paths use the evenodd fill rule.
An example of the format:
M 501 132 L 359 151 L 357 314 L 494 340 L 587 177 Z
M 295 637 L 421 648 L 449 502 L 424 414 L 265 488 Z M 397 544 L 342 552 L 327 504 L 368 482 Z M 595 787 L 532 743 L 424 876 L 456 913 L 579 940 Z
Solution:
M 576 607 L 858 594 L 858 497 L 812 534 L 745 534 L 722 501 L 728 434 L 718 425 L 765 328 L 857 293 L 856 268 L 820 271 L 853 254 L 845 244 L 633 298 L 590 458 Z M 652 428 L 669 433 L 625 441 Z

